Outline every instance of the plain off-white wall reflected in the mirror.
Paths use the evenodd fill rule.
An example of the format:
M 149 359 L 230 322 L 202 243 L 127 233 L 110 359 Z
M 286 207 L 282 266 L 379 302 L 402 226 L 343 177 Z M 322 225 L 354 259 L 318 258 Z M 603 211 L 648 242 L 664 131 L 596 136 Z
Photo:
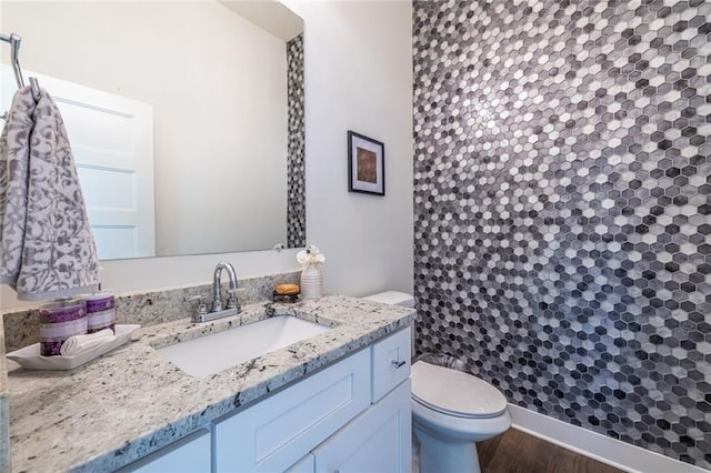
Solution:
M 216 1 L 0 11 L 24 69 L 153 105 L 158 255 L 287 241 L 283 40 Z

